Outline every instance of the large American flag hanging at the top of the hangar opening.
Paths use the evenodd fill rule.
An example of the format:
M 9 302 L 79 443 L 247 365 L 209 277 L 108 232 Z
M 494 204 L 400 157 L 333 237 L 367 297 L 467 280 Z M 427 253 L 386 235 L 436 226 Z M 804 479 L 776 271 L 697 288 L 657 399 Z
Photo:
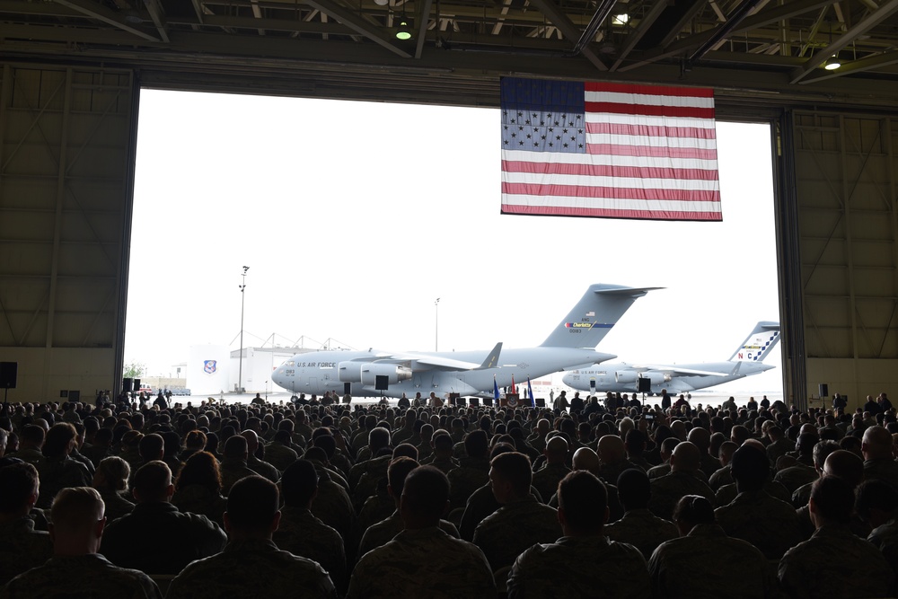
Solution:
M 712 90 L 503 78 L 502 213 L 722 220 Z

